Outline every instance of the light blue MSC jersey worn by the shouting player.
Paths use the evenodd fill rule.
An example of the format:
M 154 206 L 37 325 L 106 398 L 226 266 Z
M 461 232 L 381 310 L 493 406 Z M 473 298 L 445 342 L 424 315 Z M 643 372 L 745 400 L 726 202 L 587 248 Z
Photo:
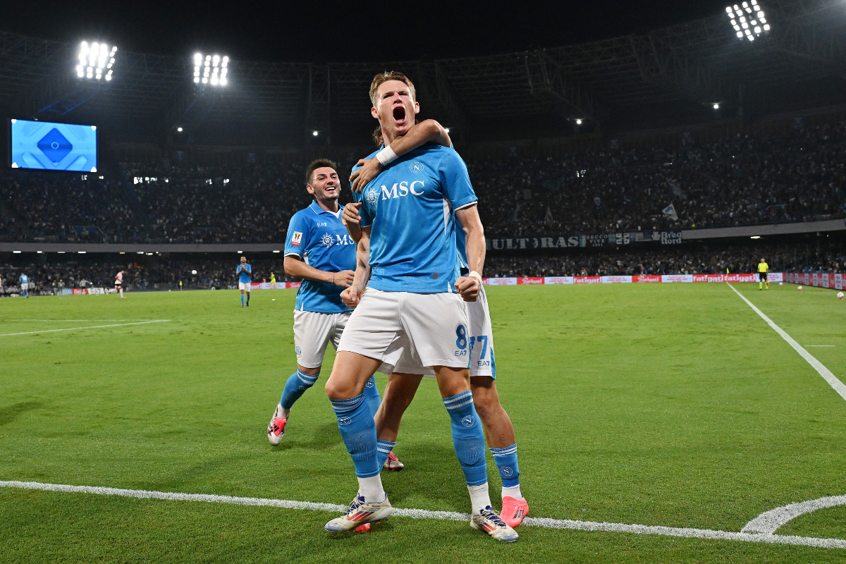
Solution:
M 361 225 L 372 226 L 371 287 L 387 292 L 455 292 L 459 258 L 454 211 L 477 200 L 457 152 L 441 145 L 410 151 L 355 199 L 363 203 Z

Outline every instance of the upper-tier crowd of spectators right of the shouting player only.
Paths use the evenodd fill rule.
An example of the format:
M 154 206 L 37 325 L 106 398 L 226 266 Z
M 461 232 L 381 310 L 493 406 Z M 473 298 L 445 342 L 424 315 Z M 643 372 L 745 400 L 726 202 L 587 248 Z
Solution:
M 469 162 L 486 233 L 621 233 L 846 215 L 846 122 L 716 143 Z M 663 210 L 673 205 L 673 213 Z

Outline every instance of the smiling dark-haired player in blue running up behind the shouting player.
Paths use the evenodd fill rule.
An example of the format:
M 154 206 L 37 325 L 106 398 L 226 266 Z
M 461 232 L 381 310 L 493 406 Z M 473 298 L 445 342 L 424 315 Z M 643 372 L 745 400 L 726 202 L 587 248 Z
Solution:
M 341 301 L 339 288 L 353 282 L 350 268 L 355 265 L 355 244 L 340 220 L 341 183 L 335 168 L 335 163 L 327 159 L 311 162 L 305 172 L 305 189 L 315 200 L 295 213 L 288 224 L 285 272 L 303 279 L 294 305 L 297 371 L 285 383 L 267 425 L 267 440 L 273 446 L 282 442 L 294 402 L 317 381 L 327 344 L 332 342 L 338 348 L 352 312 Z M 372 418 L 381 401 L 372 373 L 365 386 L 365 401 Z M 386 466 L 403 467 L 396 457 Z

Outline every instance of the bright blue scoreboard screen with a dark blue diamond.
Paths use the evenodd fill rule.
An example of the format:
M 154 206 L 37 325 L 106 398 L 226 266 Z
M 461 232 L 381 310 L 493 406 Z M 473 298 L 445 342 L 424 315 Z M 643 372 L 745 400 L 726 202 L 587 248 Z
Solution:
M 97 172 L 94 125 L 11 120 L 12 168 Z

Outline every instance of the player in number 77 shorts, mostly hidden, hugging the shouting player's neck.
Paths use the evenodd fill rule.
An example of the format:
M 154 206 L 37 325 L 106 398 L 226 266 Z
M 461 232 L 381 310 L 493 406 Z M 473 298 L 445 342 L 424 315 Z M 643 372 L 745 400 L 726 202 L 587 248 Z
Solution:
M 374 134 L 376 144 L 382 145 L 378 134 Z M 427 142 L 437 143 L 445 147 L 452 147 L 449 135 L 440 123 L 426 120 L 418 123 L 409 133 L 393 140 L 391 150 L 397 156 L 403 156 L 408 151 L 424 145 Z M 384 160 L 384 159 L 383 159 Z M 376 159 L 361 159 L 350 176 L 354 192 L 360 191 L 382 170 L 390 167 L 391 162 L 382 163 Z M 348 204 L 341 216 L 350 236 L 358 240 L 360 237 L 358 209 L 361 204 Z M 459 253 L 461 268 L 466 272 L 468 263 L 464 256 L 464 230 L 457 228 L 456 249 Z M 508 413 L 499 402 L 496 385 L 496 364 L 493 352 L 493 331 L 491 314 L 487 307 L 487 297 L 484 289 L 475 302 L 467 303 L 467 313 L 470 317 L 470 386 L 473 392 L 473 402 L 485 427 L 487 445 L 497 464 L 500 478 L 503 481 L 503 521 L 511 527 L 517 527 L 523 517 L 529 514 L 529 504 L 523 497 L 519 482 L 519 464 L 517 458 L 517 441 L 514 425 Z M 475 345 L 475 346 L 474 346 Z M 399 424 L 405 409 L 415 397 L 421 378 L 434 376 L 430 368 L 409 364 L 406 359 L 400 359 L 394 373 L 388 376 L 385 387 L 385 397 L 382 409 L 376 414 L 376 433 L 380 449 L 378 457 L 382 460 L 382 450 L 393 448 L 397 441 Z M 384 446 L 384 449 L 381 447 Z

